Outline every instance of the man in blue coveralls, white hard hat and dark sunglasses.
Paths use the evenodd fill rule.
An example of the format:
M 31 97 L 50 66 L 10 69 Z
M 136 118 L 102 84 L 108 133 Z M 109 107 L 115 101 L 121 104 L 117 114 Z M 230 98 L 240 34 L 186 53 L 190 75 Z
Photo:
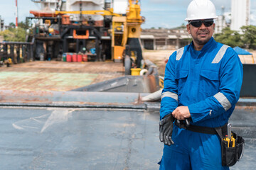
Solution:
M 160 169 L 229 169 L 222 166 L 215 128 L 225 129 L 238 102 L 242 64 L 231 47 L 213 39 L 215 18 L 210 0 L 191 1 L 185 21 L 193 41 L 174 52 L 166 64 Z M 191 126 L 196 128 L 187 128 Z

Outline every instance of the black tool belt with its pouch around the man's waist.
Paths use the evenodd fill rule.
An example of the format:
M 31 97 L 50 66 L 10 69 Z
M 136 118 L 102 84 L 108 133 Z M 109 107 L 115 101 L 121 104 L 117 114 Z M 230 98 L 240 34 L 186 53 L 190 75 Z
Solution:
M 174 124 L 177 125 L 179 128 L 183 128 L 193 132 L 219 135 L 221 139 L 220 145 L 222 166 L 233 166 L 242 158 L 245 147 L 245 140 L 242 137 L 236 135 L 235 132 L 232 132 L 232 139 L 228 140 L 228 123 L 218 128 L 190 125 L 190 123 L 187 124 L 184 121 L 183 123 L 177 123 L 177 120 L 175 120 Z

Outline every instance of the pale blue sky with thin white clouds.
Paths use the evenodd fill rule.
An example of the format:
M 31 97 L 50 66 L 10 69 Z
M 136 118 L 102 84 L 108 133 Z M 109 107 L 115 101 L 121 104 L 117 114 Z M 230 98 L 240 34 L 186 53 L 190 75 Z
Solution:
M 142 28 L 175 28 L 186 24 L 186 8 L 191 0 L 140 0 L 141 15 L 146 18 Z M 220 15 L 221 6 L 230 12 L 231 0 L 212 0 L 216 13 Z M 5 25 L 15 23 L 15 0 L 0 0 L 0 16 Z M 31 0 L 18 0 L 18 22 L 25 21 L 26 16 L 33 16 L 30 10 L 39 10 L 40 6 Z M 256 26 L 256 0 L 251 0 L 251 25 Z

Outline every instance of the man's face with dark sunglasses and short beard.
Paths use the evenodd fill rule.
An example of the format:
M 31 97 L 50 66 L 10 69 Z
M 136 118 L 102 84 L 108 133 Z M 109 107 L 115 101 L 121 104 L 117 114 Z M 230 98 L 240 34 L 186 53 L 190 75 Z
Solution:
M 203 21 L 205 23 L 203 23 Z M 206 42 L 208 42 L 210 38 L 213 36 L 215 24 L 213 23 L 210 25 L 210 21 L 212 21 L 213 23 L 213 19 L 199 21 L 194 20 L 190 21 L 186 26 L 188 33 L 191 34 L 193 38 L 193 42 L 197 45 L 205 45 Z

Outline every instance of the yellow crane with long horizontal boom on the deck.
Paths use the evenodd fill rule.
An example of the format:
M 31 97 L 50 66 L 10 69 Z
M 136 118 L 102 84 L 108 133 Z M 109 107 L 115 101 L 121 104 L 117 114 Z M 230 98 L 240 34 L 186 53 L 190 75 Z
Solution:
M 56 15 L 63 14 L 82 14 L 82 15 L 101 15 L 112 16 L 112 60 L 114 62 L 126 61 L 126 73 L 129 74 L 131 67 L 140 67 L 142 60 L 142 49 L 139 43 L 139 36 L 141 34 L 141 24 L 144 23 L 144 17 L 140 16 L 140 5 L 138 0 L 129 0 L 129 6 L 125 16 L 114 13 L 113 8 L 109 11 L 55 11 Z M 134 47 L 131 47 L 131 45 Z M 129 47 L 130 46 L 130 47 Z M 124 51 L 129 48 L 129 60 L 124 59 Z

